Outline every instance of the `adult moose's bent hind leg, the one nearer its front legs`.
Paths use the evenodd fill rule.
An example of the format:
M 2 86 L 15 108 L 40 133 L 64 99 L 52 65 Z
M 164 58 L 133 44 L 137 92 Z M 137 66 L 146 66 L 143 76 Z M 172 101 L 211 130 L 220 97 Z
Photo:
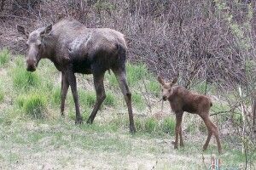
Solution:
M 97 111 L 99 110 L 100 106 L 102 105 L 102 102 L 106 98 L 105 89 L 104 89 L 104 73 L 100 75 L 93 75 L 94 80 L 94 87 L 96 90 L 96 104 L 93 108 L 93 111 L 90 114 L 90 117 L 87 121 L 87 123 L 92 123 L 94 118 L 96 117 Z

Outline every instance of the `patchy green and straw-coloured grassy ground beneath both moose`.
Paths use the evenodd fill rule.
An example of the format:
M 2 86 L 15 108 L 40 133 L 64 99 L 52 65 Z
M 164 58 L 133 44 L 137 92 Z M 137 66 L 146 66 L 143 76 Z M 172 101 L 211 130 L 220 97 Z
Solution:
M 160 87 L 144 65 L 127 65 L 138 131 L 131 135 L 113 73 L 105 76 L 107 99 L 94 124 L 75 126 L 70 92 L 66 117 L 60 116 L 61 82 L 54 65 L 42 60 L 38 71 L 28 73 L 24 57 L 8 50 L 0 61 L 0 169 L 207 169 L 212 155 L 227 169 L 244 167 L 239 147 L 223 142 L 224 154 L 218 156 L 213 138 L 201 151 L 207 132 L 195 116 L 184 117 L 185 147 L 173 149 L 174 116 L 168 104 L 160 112 Z M 91 76 L 77 77 L 86 119 L 96 96 Z M 160 113 L 163 117 L 155 119 Z

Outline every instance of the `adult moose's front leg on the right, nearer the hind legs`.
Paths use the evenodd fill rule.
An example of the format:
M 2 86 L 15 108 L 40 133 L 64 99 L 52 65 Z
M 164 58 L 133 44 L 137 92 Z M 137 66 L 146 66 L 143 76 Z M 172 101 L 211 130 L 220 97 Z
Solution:
M 71 87 L 71 91 L 73 94 L 73 101 L 75 103 L 75 108 L 76 108 L 76 124 L 81 124 L 83 122 L 83 117 L 80 114 L 79 110 L 79 95 L 78 95 L 78 89 L 77 89 L 77 81 L 76 77 L 74 75 L 73 71 L 67 71 L 67 77 L 68 77 L 68 82 Z

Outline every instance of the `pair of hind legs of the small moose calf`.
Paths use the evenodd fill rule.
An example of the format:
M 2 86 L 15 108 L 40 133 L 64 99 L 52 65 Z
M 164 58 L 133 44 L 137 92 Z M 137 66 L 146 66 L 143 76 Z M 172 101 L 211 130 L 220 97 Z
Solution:
M 204 144 L 204 146 L 203 146 L 203 150 L 207 150 L 208 144 L 209 144 L 210 139 L 211 139 L 212 134 L 213 134 L 215 136 L 215 138 L 216 138 L 216 141 L 217 141 L 218 153 L 221 154 L 222 149 L 221 149 L 221 144 L 220 144 L 220 140 L 219 140 L 218 127 L 216 127 L 212 123 L 212 121 L 210 120 L 209 116 L 201 116 L 201 118 L 205 122 L 205 124 L 207 126 L 207 130 L 208 130 L 208 137 L 207 137 L 206 144 Z

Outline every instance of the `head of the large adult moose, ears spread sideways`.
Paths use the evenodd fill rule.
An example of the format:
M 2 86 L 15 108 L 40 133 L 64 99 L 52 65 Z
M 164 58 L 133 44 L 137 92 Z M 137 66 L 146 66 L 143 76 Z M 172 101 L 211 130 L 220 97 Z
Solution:
M 36 71 L 39 60 L 44 57 L 44 37 L 49 35 L 51 29 L 52 25 L 49 25 L 29 33 L 23 26 L 17 26 L 17 30 L 27 37 L 26 71 Z

